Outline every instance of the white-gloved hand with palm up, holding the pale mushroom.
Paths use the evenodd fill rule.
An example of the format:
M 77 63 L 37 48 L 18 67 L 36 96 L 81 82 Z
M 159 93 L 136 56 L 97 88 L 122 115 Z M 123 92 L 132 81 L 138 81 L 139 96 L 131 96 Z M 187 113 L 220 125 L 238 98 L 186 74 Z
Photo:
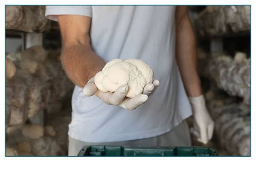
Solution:
M 108 105 L 118 105 L 122 108 L 128 110 L 134 110 L 145 101 L 147 101 L 148 96 L 153 94 L 157 86 L 160 84 L 159 80 L 154 80 L 153 83 L 145 85 L 143 89 L 143 94 L 139 94 L 134 98 L 125 97 L 128 92 L 128 85 L 123 85 L 119 87 L 114 93 L 111 92 L 102 92 L 100 91 L 95 83 L 94 77 L 91 78 L 87 84 L 84 86 L 83 92 L 85 96 L 93 96 L 94 94 L 102 99 Z

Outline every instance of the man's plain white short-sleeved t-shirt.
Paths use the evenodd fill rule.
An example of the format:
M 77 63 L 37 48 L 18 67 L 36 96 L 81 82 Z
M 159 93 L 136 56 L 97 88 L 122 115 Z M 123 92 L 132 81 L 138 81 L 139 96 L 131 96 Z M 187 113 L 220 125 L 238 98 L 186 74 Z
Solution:
M 192 111 L 175 60 L 175 6 L 47 6 L 46 16 L 91 17 L 93 51 L 105 62 L 141 59 L 160 86 L 134 111 L 84 96 L 75 87 L 68 135 L 84 142 L 143 139 L 169 132 Z

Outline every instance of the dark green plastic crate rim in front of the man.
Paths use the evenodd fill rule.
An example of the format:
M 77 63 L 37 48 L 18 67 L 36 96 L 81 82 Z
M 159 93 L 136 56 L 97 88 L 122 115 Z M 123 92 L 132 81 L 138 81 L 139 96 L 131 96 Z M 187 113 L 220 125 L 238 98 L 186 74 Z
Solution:
M 84 146 L 78 156 L 218 156 L 211 147 Z

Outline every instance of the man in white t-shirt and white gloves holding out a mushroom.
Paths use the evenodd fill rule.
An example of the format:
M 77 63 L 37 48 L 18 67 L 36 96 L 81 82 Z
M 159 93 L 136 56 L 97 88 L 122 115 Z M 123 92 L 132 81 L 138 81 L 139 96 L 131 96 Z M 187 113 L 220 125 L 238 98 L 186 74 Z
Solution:
M 186 6 L 47 6 L 46 16 L 60 25 L 61 62 L 76 84 L 69 155 L 95 144 L 191 146 L 192 113 L 198 141 L 211 139 Z M 132 99 L 127 86 L 99 91 L 93 77 L 115 58 L 147 62 L 156 80 Z

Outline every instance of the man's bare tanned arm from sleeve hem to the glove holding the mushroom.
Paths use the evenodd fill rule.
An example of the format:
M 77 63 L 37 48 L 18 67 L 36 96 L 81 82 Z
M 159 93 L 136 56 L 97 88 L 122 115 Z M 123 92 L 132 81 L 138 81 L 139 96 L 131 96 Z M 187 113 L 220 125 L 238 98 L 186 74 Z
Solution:
M 90 46 L 91 18 L 81 15 L 58 15 L 61 29 L 61 63 L 73 83 L 83 88 L 105 65 Z

